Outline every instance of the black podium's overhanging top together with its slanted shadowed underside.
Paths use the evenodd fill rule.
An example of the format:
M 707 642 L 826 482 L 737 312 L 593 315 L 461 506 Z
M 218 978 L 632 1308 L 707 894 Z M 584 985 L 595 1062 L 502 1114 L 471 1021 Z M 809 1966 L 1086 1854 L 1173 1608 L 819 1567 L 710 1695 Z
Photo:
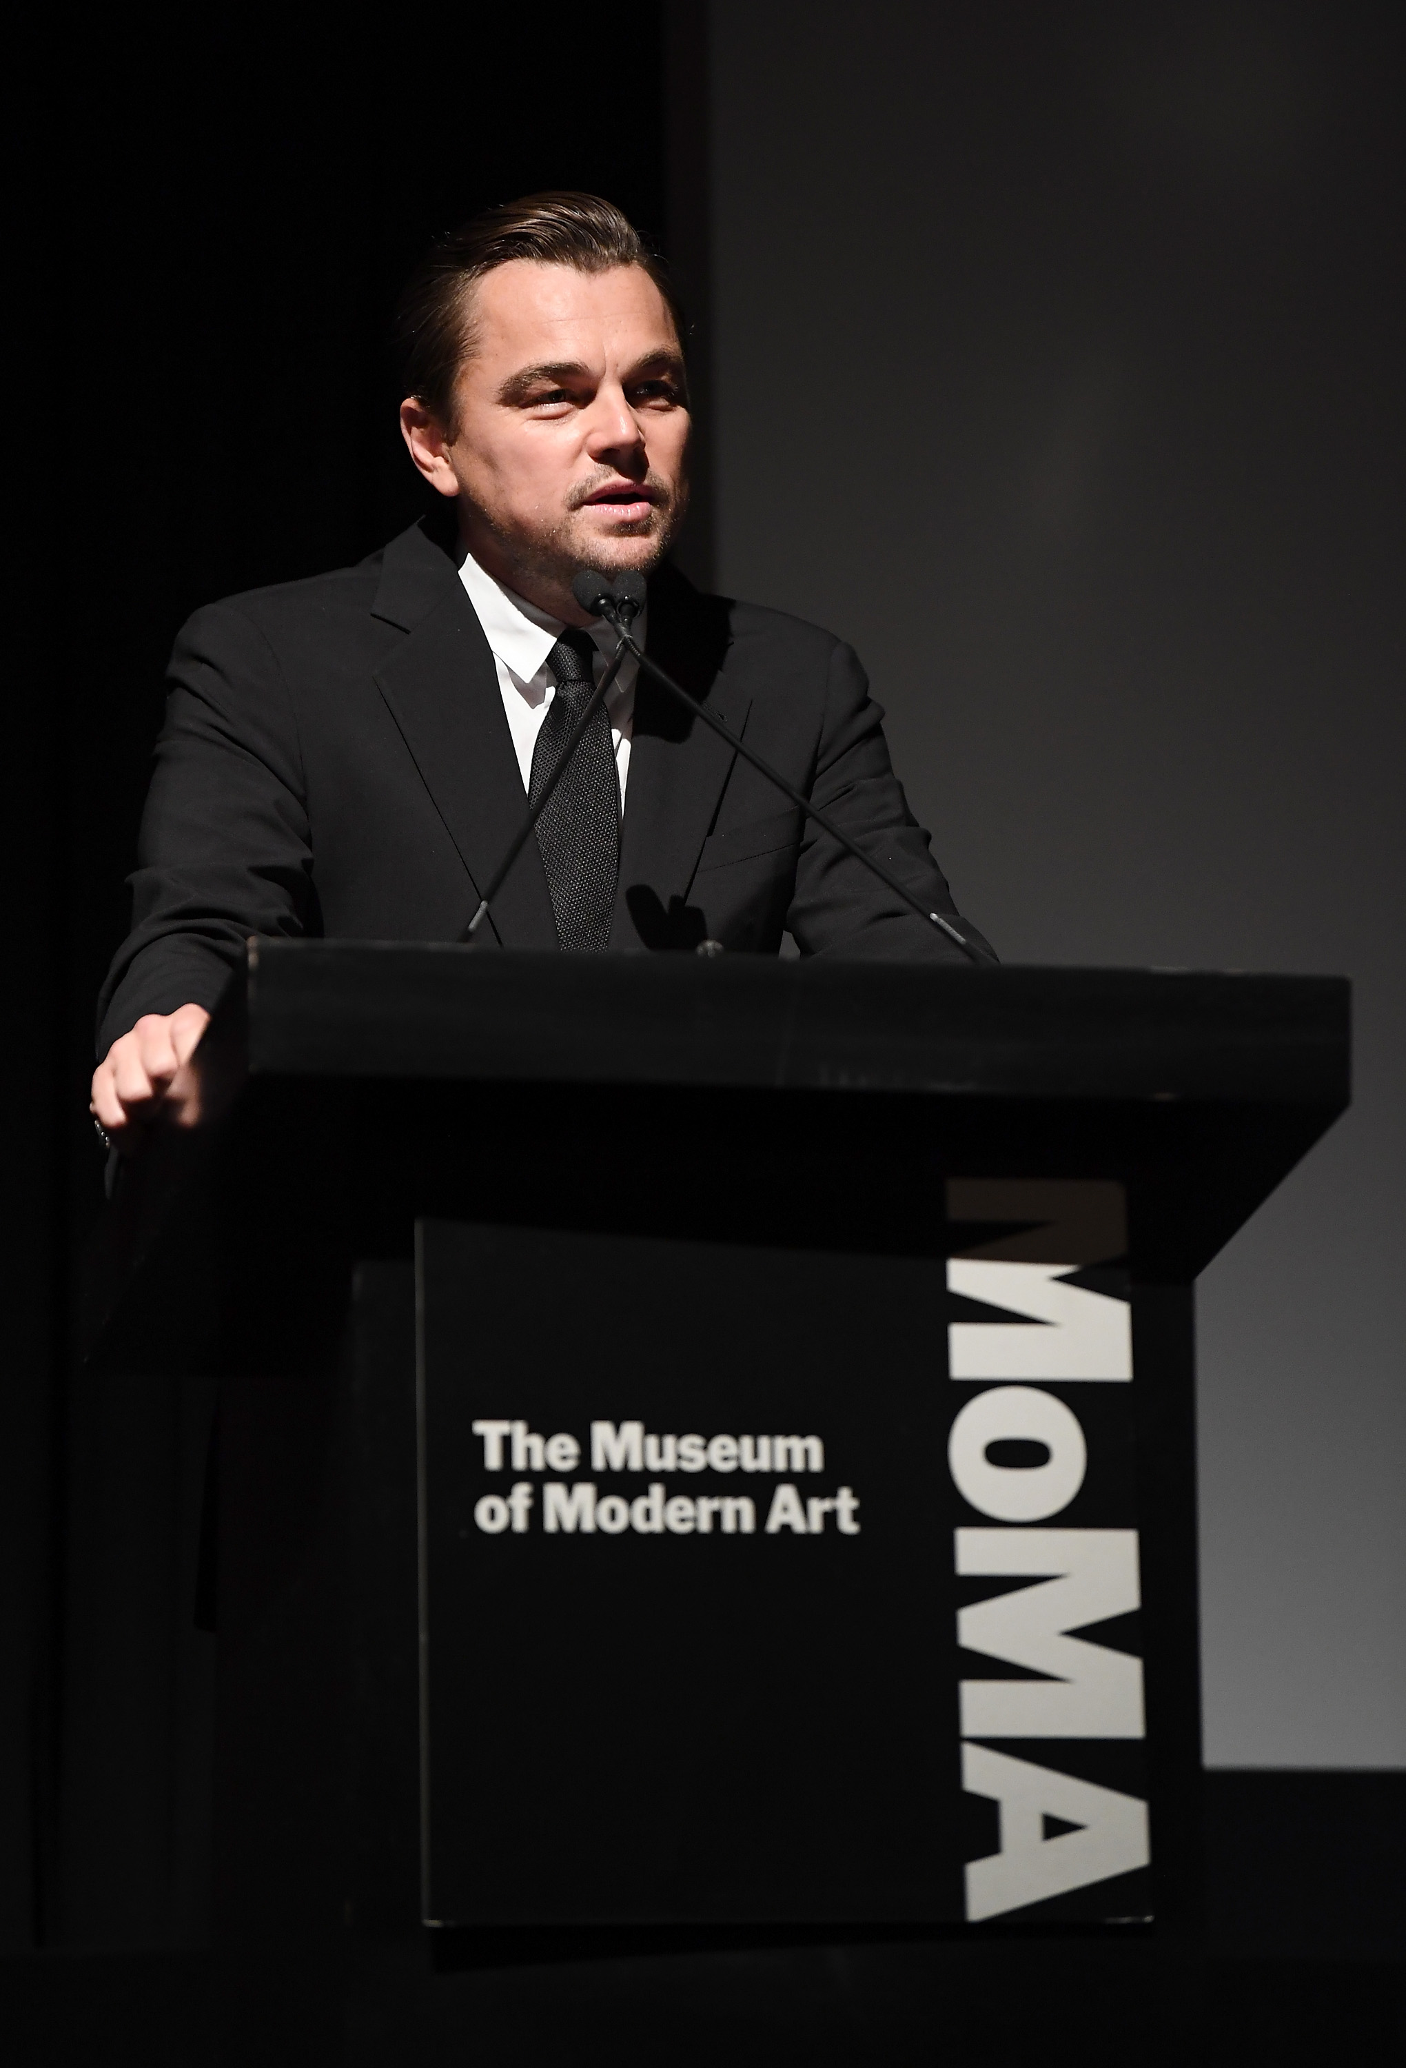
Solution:
M 1348 1104 L 1348 1003 L 1321 976 L 258 941 L 194 1123 L 153 1129 L 93 1230 L 83 1340 L 157 1369 L 155 1315 L 196 1369 L 174 1286 L 269 1295 L 422 1218 L 928 1253 L 945 1177 L 1121 1181 L 1135 1270 L 1185 1284 Z M 120 1311 L 145 1319 L 114 1336 Z

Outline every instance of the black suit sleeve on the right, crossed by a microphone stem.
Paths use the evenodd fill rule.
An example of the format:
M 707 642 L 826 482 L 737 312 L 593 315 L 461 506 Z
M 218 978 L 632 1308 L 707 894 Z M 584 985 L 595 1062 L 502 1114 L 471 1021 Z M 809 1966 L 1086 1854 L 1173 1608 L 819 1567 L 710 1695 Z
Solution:
M 883 709 L 868 695 L 868 678 L 848 645 L 831 651 L 808 794 L 889 875 L 930 902 L 935 912 L 959 918 L 928 833 L 908 809 L 893 773 Z M 802 955 L 966 964 L 947 935 L 918 918 L 813 819 L 802 835 L 786 926 Z M 961 931 L 986 945 L 970 920 L 961 920 Z

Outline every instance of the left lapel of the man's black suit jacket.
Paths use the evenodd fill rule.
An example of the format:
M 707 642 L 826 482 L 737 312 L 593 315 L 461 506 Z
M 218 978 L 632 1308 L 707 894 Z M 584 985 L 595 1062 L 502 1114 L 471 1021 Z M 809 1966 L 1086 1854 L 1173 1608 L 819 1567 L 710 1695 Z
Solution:
M 527 809 L 498 670 L 482 625 L 455 560 L 422 527 L 387 548 L 372 608 L 405 631 L 376 670 L 376 687 L 482 893 Z M 463 918 L 467 924 L 471 906 Z M 527 842 L 498 891 L 490 924 L 505 947 L 556 947 L 536 840 Z

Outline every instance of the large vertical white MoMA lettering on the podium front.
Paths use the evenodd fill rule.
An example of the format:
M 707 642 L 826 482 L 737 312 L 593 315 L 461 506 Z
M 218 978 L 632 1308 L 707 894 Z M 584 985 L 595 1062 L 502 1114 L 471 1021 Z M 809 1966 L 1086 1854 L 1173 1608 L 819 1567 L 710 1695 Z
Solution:
M 961 1785 L 999 1828 L 966 1865 L 978 1923 L 1150 1861 L 1145 1799 L 1090 1778 L 1088 1756 L 1145 1735 L 1141 1659 L 1081 1636 L 1141 1605 L 1133 1338 L 1108 1270 L 1127 1247 L 1121 1185 L 951 1181 L 947 1216 L 947 1288 L 970 1303 L 947 1328 L 949 1377 L 968 1388 L 947 1464 L 980 1518 L 953 1543 Z M 978 1659 L 997 1671 L 978 1677 Z

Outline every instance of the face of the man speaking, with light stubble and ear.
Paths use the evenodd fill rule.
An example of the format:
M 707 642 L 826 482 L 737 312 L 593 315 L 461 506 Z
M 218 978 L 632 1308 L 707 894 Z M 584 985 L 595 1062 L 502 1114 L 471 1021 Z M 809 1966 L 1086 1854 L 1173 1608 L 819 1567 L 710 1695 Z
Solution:
M 473 287 L 471 325 L 453 440 L 401 420 L 473 556 L 552 610 L 583 567 L 651 569 L 686 505 L 689 405 L 649 275 L 515 258 Z

